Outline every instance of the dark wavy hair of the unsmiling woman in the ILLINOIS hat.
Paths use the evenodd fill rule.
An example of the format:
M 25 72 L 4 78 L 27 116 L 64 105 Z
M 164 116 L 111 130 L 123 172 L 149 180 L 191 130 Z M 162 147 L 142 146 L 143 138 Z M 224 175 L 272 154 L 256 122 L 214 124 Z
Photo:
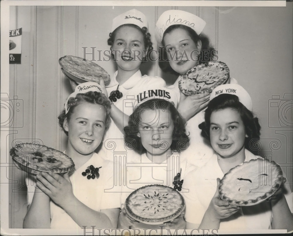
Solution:
M 141 114 L 145 110 L 169 110 L 171 119 L 174 124 L 173 141 L 171 143 L 171 151 L 178 152 L 185 150 L 189 146 L 189 138 L 185 130 L 185 120 L 181 117 L 172 102 L 163 99 L 150 99 L 143 102 L 141 105 L 134 109 L 130 115 L 128 126 L 124 128 L 125 142 L 129 140 L 134 141 L 134 149 L 138 153 L 145 153 L 146 149 L 141 144 L 140 137 L 137 136 L 139 126 L 141 126 Z

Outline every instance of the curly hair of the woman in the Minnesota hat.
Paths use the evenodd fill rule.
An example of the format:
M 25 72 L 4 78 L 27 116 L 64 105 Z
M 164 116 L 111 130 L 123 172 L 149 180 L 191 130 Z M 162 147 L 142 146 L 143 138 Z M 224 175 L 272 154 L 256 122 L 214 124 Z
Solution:
M 153 43 L 151 42 L 151 34 L 148 33 L 147 27 L 140 28 L 139 26 L 134 25 L 134 24 L 124 24 L 124 25 L 118 26 L 113 32 L 111 32 L 109 34 L 108 45 L 111 46 L 110 47 L 111 52 L 112 52 L 112 46 L 113 46 L 113 43 L 114 43 L 114 40 L 115 40 L 117 30 L 119 30 L 123 26 L 129 26 L 129 27 L 135 28 L 135 29 L 139 30 L 142 33 L 142 35 L 144 37 L 144 48 L 147 48 L 147 55 L 146 55 L 146 58 L 143 61 L 147 61 L 147 59 L 149 59 L 149 52 L 151 52 L 151 50 L 153 50 Z M 115 59 L 114 55 L 112 53 L 111 53 L 111 57 L 112 57 L 113 60 Z

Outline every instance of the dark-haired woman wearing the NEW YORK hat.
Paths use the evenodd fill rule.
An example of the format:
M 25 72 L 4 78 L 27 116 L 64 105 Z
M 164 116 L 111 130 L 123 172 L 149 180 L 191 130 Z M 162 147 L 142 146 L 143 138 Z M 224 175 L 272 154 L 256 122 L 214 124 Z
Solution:
M 220 85 L 212 91 L 210 99 L 200 129 L 215 154 L 205 165 L 185 177 L 185 184 L 190 188 L 189 193 L 184 193 L 187 228 L 293 230 L 293 194 L 288 183 L 281 185 L 280 194 L 252 206 L 234 206 L 219 197 L 219 181 L 225 173 L 243 162 L 260 158 L 248 151 L 250 141 L 260 138 L 260 125 L 251 112 L 251 98 L 240 85 Z M 259 165 L 259 171 L 261 168 L 264 167 Z M 267 173 L 270 172 L 272 169 Z M 237 179 L 251 182 L 250 179 Z M 257 183 L 268 185 L 273 180 L 266 181 L 265 184 Z M 231 188 L 234 185 L 236 183 L 231 183 Z M 239 190 L 237 187 L 236 191 Z

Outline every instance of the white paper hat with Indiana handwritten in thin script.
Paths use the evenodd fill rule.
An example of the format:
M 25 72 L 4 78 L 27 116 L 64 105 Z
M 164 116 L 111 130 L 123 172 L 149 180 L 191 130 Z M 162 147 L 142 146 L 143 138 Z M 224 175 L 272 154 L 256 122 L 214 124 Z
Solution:
M 192 13 L 181 10 L 168 10 L 159 17 L 155 27 L 155 37 L 157 42 L 161 42 L 165 30 L 170 25 L 186 25 L 192 28 L 198 35 L 205 28 L 206 22 Z

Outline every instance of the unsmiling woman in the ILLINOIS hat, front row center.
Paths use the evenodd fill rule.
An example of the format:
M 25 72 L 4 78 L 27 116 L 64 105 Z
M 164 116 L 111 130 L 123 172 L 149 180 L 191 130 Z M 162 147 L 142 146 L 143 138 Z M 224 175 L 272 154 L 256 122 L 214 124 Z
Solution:
M 154 93 L 156 96 L 152 96 Z M 126 186 L 122 186 L 122 204 L 132 191 L 148 184 L 161 184 L 180 192 L 188 191 L 184 188 L 183 179 L 195 166 L 180 155 L 180 151 L 188 148 L 189 139 L 185 132 L 185 121 L 174 106 L 176 103 L 176 94 L 168 88 L 157 87 L 137 95 L 137 104 L 124 130 L 125 141 L 131 141 L 136 151 L 135 156 L 127 155 L 127 163 L 140 165 L 127 167 Z M 173 182 L 174 178 L 176 183 Z M 121 208 L 118 228 L 159 228 L 159 224 L 151 225 L 131 219 L 123 205 Z M 150 208 L 156 211 L 156 206 Z M 164 229 L 182 229 L 185 228 L 185 220 L 181 214 L 172 222 L 160 225 Z

